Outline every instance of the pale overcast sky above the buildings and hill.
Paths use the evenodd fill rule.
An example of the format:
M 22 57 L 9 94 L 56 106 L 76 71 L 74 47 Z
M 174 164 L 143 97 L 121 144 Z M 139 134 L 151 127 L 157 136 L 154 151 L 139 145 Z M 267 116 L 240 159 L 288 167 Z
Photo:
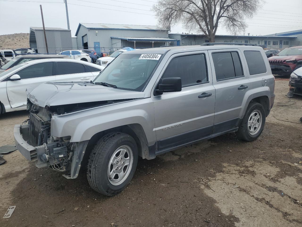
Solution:
M 40 4 L 43 8 L 45 27 L 67 28 L 63 2 L 64 0 L 0 0 L 0 35 L 28 33 L 29 27 L 42 27 Z M 156 0 L 67 0 L 67 2 L 72 36 L 75 35 L 79 23 L 126 25 L 156 25 L 157 23 L 154 13 L 150 11 Z M 286 2 L 289 5 L 286 5 Z M 301 0 L 266 0 L 257 15 L 246 21 L 249 27 L 245 34 L 268 35 L 302 29 L 301 9 Z M 172 27 L 172 33 L 178 32 L 194 33 L 184 30 L 182 25 Z M 230 33 L 220 27 L 217 34 L 229 35 Z

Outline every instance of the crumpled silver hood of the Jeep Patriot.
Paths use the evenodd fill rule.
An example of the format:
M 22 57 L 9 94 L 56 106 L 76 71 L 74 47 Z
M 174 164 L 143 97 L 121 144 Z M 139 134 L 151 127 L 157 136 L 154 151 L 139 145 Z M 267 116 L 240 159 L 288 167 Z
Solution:
M 26 90 L 27 98 L 40 107 L 143 98 L 144 92 L 120 90 L 90 83 L 45 83 Z

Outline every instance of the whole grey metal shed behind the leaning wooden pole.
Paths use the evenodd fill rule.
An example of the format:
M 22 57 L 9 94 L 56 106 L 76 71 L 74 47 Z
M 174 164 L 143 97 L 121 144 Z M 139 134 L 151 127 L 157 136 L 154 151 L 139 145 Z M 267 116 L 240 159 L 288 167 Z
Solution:
M 38 53 L 46 54 L 43 28 L 30 27 L 29 45 Z M 55 54 L 72 47 L 71 31 L 64 28 L 45 28 L 48 53 Z

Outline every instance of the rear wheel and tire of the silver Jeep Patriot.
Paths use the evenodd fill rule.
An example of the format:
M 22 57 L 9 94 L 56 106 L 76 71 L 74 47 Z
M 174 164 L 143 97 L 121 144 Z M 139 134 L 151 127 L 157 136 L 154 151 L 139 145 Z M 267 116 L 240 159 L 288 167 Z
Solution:
M 259 120 L 257 116 L 259 116 Z M 252 102 L 247 107 L 246 113 L 239 125 L 239 129 L 236 132 L 237 137 L 246 141 L 256 140 L 261 135 L 264 129 L 264 124 L 265 111 L 263 106 L 260 103 Z

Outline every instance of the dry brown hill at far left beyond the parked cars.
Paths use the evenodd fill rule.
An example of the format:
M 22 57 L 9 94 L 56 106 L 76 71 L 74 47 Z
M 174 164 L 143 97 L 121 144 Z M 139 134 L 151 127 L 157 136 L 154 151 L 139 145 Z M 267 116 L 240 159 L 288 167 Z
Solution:
M 0 48 L 29 48 L 29 33 L 0 35 Z

